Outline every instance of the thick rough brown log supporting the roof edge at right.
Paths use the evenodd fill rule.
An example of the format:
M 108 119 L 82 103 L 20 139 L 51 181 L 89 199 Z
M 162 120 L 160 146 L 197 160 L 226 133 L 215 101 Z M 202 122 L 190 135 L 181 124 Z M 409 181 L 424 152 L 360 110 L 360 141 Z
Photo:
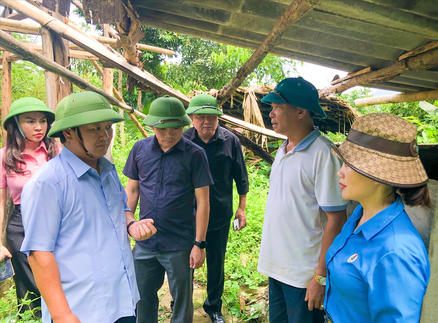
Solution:
M 373 83 L 378 84 L 381 82 L 392 80 L 394 77 L 403 72 L 406 72 L 407 70 L 427 70 L 437 65 L 438 49 L 433 49 L 417 56 L 408 57 L 404 60 L 392 64 L 389 67 L 385 67 L 380 70 L 370 71 L 365 74 L 358 75 L 357 77 L 350 78 L 349 80 L 329 86 L 327 88 L 319 89 L 318 93 L 320 97 L 323 95 L 334 95 L 355 86 L 363 86 L 364 84 Z

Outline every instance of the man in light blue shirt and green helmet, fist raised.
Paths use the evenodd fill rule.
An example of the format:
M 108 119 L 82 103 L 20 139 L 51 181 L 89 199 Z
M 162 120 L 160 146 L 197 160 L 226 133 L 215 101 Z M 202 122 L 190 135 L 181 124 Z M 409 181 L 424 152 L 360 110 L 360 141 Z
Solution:
M 123 117 L 94 92 L 57 106 L 50 138 L 64 144 L 24 186 L 21 252 L 42 296 L 43 323 L 134 323 L 139 300 L 127 233 L 150 238 L 153 221 L 136 221 L 115 166 L 104 158 L 113 123 Z

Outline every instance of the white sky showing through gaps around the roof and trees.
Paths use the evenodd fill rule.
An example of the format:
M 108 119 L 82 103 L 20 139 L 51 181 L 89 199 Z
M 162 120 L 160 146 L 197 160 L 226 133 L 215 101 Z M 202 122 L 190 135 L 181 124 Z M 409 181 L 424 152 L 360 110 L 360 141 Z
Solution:
M 76 14 L 73 13 L 73 10 L 75 8 L 76 7 L 73 4 L 71 4 L 71 7 L 70 7 L 70 19 L 72 21 L 74 21 L 75 24 L 80 25 L 81 22 L 85 22 L 85 19 L 80 18 L 79 16 L 77 16 Z M 32 21 L 32 20 L 31 19 L 25 19 L 24 21 Z M 99 35 L 99 33 L 95 31 L 94 25 L 91 26 L 91 30 L 88 31 L 87 33 L 89 33 L 91 35 Z M 36 41 L 37 41 L 38 44 L 41 44 L 41 36 L 38 36 Z M 180 59 L 175 59 L 175 58 L 168 57 L 166 59 L 166 61 L 170 62 L 170 63 L 177 63 L 177 62 L 180 61 Z M 325 87 L 329 86 L 330 82 L 332 81 L 333 77 L 336 74 L 338 74 L 339 77 L 344 77 L 344 76 L 346 76 L 348 74 L 346 71 L 336 70 L 336 69 L 329 68 L 329 67 L 322 67 L 322 66 L 319 66 L 319 65 L 311 64 L 311 63 L 304 63 L 304 65 L 301 66 L 301 63 L 298 62 L 296 67 L 297 67 L 297 70 L 298 70 L 298 74 L 300 76 L 302 76 L 305 80 L 307 80 L 307 81 L 311 82 L 312 84 L 314 84 L 316 86 L 316 88 L 325 88 Z M 295 77 L 297 75 L 292 74 L 292 75 L 288 75 L 288 76 Z M 351 91 L 351 90 L 352 89 L 347 90 L 347 91 Z M 393 93 L 400 93 L 400 92 L 372 89 L 371 93 L 373 95 L 386 95 L 386 94 L 393 94 Z

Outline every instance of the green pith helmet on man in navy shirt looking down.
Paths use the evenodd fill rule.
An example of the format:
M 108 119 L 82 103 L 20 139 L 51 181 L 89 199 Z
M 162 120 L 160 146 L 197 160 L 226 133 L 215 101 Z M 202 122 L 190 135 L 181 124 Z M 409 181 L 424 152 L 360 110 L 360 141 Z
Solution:
M 151 103 L 143 123 L 156 128 L 179 128 L 191 124 L 191 119 L 180 100 L 165 95 Z

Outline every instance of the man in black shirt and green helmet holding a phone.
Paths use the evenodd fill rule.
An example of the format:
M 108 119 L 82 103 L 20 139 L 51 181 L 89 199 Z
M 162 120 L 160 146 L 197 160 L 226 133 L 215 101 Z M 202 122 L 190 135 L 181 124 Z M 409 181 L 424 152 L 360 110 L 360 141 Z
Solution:
M 233 180 L 239 194 L 239 206 L 234 216 L 237 230 L 247 225 L 246 194 L 248 173 L 239 138 L 218 124 L 223 113 L 216 98 L 208 94 L 195 95 L 187 108 L 193 127 L 183 136 L 205 149 L 214 185 L 210 186 L 210 219 L 207 230 L 207 298 L 204 310 L 213 323 L 225 323 L 222 310 L 226 242 L 233 217 Z

